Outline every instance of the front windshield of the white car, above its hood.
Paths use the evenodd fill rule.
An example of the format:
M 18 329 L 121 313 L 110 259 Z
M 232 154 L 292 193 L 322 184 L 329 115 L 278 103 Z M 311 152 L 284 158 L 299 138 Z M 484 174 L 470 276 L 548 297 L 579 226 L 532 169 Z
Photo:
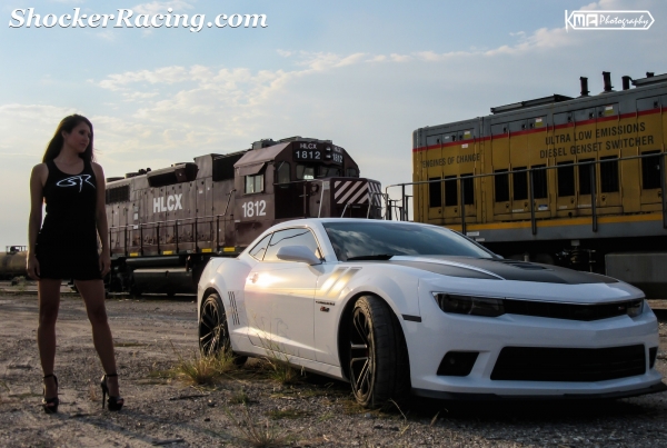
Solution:
M 474 241 L 436 226 L 364 221 L 325 222 L 323 227 L 340 261 L 387 260 L 401 255 L 494 258 Z

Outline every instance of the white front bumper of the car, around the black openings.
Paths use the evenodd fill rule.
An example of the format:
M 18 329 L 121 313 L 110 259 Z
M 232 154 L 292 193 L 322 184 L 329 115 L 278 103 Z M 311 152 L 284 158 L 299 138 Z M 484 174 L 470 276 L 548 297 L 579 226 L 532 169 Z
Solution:
M 422 291 L 421 291 L 422 292 Z M 441 399 L 620 398 L 665 390 L 660 374 L 649 366 L 649 348 L 658 347 L 658 323 L 646 307 L 636 317 L 594 321 L 504 315 L 496 318 L 445 313 L 430 291 L 420 293 L 421 322 L 404 321 L 410 356 L 412 390 Z M 504 347 L 585 348 L 644 346 L 641 375 L 599 381 L 494 380 L 491 372 Z M 437 375 L 449 351 L 478 352 L 465 377 Z

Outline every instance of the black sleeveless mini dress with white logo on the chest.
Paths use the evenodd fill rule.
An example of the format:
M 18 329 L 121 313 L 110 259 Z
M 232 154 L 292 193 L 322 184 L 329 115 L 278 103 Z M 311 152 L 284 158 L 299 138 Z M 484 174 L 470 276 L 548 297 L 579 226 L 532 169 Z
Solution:
M 60 171 L 53 161 L 48 161 L 47 167 L 47 215 L 34 247 L 40 278 L 101 279 L 92 165 L 84 160 L 79 175 Z

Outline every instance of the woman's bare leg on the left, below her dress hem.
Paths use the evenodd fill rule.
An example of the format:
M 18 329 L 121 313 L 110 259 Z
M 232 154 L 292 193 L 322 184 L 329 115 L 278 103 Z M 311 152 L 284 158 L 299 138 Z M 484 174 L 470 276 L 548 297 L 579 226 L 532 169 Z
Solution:
M 60 280 L 41 279 L 37 282 L 39 299 L 39 326 L 37 327 L 37 347 L 43 376 L 53 374 L 56 361 L 56 320 L 60 308 Z M 43 380 L 44 398 L 58 396 L 53 377 Z

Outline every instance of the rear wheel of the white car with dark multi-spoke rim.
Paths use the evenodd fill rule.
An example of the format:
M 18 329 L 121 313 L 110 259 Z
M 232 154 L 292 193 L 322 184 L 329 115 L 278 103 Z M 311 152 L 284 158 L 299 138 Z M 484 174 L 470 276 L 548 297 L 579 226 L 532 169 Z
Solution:
M 222 300 L 217 293 L 209 295 L 201 306 L 199 319 L 199 349 L 206 356 L 218 355 L 220 351 L 232 356 L 233 364 L 242 366 L 248 357 L 237 356 L 231 350 L 231 339 L 227 326 L 227 313 Z

